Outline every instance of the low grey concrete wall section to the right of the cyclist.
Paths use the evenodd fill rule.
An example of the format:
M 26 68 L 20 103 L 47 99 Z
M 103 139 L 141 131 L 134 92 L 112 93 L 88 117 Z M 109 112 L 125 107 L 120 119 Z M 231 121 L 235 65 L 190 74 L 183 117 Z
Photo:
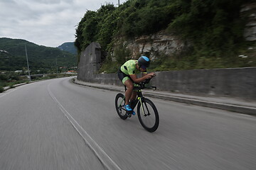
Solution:
M 183 94 L 256 100 L 256 67 L 157 72 L 153 84 Z

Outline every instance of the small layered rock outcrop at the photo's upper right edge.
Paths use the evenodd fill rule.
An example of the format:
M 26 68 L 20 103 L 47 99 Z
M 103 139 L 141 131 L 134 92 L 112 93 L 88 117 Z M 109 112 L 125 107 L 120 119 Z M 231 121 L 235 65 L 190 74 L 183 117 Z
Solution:
M 244 31 L 245 40 L 256 41 L 256 3 L 242 6 L 241 14 L 247 23 Z

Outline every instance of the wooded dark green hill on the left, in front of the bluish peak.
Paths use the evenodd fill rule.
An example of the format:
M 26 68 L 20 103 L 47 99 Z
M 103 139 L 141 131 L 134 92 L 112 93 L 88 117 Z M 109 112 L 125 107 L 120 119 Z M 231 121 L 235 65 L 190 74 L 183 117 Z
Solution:
M 50 69 L 56 69 L 56 62 L 58 67 L 70 68 L 77 65 L 76 55 L 57 47 L 36 45 L 26 40 L 0 38 L 0 70 L 26 69 L 25 44 L 31 72 L 48 72 Z

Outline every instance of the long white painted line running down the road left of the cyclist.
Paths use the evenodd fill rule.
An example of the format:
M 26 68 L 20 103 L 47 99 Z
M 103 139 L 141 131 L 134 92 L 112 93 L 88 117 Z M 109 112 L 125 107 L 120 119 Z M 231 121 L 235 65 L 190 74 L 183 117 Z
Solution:
M 75 130 L 78 131 L 78 133 L 81 135 L 81 137 L 85 140 L 86 144 L 92 149 L 92 152 L 95 153 L 98 159 L 100 159 L 100 162 L 105 166 L 106 169 L 117 169 L 121 170 L 119 166 L 104 152 L 104 150 L 97 145 L 95 140 L 88 135 L 88 133 L 78 124 L 78 122 L 68 113 L 68 111 L 65 110 L 65 108 L 60 104 L 60 102 L 55 98 L 52 91 L 50 91 L 50 84 L 48 84 L 48 93 L 50 94 L 50 97 L 53 98 L 53 101 L 55 101 L 58 104 L 58 107 L 60 108 L 60 111 L 62 111 L 66 118 L 70 121 L 70 123 L 73 125 Z

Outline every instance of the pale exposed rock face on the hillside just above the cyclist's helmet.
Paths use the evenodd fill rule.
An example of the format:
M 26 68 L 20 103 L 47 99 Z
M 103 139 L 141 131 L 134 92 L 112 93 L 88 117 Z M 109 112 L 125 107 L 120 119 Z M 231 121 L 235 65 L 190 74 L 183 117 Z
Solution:
M 181 52 L 186 44 L 176 35 L 161 31 L 153 35 L 144 35 L 135 40 L 124 42 L 132 52 L 132 57 L 144 54 L 154 60 L 156 54 L 171 55 Z

